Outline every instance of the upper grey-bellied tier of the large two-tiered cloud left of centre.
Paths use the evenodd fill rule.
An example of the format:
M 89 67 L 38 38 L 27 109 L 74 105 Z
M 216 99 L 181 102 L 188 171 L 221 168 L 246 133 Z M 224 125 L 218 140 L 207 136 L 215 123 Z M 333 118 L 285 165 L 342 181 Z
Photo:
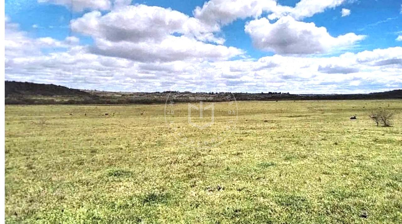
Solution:
M 219 31 L 219 27 L 207 26 L 186 14 L 158 6 L 125 6 L 103 16 L 98 11 L 89 12 L 73 20 L 71 28 L 115 42 L 160 41 L 174 33 L 203 41 L 222 42 L 212 33 Z

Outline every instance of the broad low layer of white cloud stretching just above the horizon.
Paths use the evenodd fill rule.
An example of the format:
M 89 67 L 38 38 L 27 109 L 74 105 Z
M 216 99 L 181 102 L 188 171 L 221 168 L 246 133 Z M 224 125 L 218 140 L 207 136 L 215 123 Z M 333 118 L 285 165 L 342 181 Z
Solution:
M 11 27 L 18 32 L 15 25 Z M 56 44 L 47 38 L 14 37 L 24 39 L 28 46 Z M 78 40 L 70 37 L 66 41 L 76 43 Z M 25 48 L 25 45 L 20 47 Z M 175 47 L 180 49 L 180 46 Z M 250 92 L 252 89 L 252 92 L 346 93 L 402 87 L 402 47 L 344 53 L 330 58 L 273 55 L 258 60 L 209 62 L 197 60 L 197 57 L 172 62 L 137 62 L 90 53 L 82 46 L 47 55 L 21 52 L 10 56 L 6 53 L 5 78 L 123 91 Z

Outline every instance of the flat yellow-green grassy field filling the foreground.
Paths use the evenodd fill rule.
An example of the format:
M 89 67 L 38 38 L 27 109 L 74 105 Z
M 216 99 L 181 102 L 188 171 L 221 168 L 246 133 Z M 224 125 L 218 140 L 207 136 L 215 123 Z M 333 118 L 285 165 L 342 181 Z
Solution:
M 6 106 L 6 222 L 402 223 L 402 101 L 226 106 Z

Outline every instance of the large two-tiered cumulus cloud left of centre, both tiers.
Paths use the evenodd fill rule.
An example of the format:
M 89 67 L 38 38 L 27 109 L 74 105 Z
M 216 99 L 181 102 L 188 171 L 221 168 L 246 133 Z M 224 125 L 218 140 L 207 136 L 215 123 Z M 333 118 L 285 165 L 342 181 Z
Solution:
M 224 40 L 213 33 L 219 27 L 157 6 L 124 6 L 105 15 L 89 12 L 73 20 L 71 28 L 95 39 L 92 53 L 142 62 L 226 60 L 244 53 L 219 45 Z

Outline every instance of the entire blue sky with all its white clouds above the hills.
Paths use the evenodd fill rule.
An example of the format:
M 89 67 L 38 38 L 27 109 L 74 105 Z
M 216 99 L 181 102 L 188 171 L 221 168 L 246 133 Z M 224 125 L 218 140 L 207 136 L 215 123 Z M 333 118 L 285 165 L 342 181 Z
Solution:
M 402 88 L 401 0 L 71 2 L 5 1 L 6 79 L 115 91 Z M 373 67 L 382 61 L 396 63 Z M 387 80 L 370 84 L 376 76 Z

